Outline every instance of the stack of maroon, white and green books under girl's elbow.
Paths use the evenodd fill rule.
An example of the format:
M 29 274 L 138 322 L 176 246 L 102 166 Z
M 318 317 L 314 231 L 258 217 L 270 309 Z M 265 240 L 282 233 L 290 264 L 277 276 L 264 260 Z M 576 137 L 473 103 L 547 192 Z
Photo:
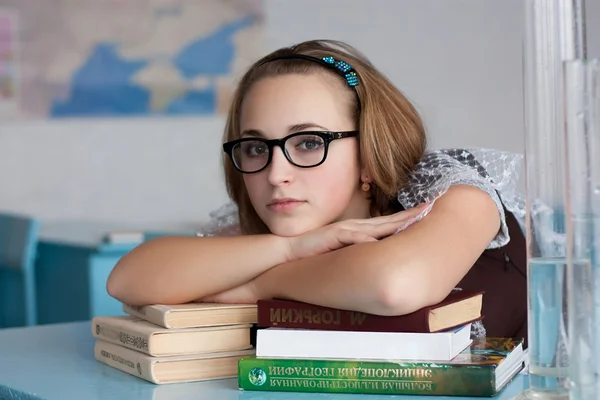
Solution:
M 471 339 L 482 292 L 453 291 L 402 316 L 258 302 L 256 354 L 241 390 L 493 396 L 523 368 L 522 340 Z

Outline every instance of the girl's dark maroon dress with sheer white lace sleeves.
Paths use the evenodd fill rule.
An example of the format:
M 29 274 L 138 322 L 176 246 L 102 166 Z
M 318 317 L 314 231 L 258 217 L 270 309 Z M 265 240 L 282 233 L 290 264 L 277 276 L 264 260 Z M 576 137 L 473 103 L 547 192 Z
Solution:
M 501 218 L 498 234 L 456 288 L 485 291 L 484 319 L 472 325 L 473 337 L 527 340 L 525 198 L 517 190 L 522 164 L 522 155 L 494 149 L 429 151 L 409 174 L 407 185 L 398 191 L 401 209 L 431 203 L 416 220 L 425 217 L 453 185 L 477 187 L 496 204 Z M 238 235 L 238 223 L 237 207 L 228 203 L 210 214 L 198 235 Z

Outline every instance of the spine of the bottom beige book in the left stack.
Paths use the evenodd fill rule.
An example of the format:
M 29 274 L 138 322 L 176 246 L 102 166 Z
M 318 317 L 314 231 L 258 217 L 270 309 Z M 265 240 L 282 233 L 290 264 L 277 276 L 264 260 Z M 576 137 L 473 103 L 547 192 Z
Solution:
M 158 384 L 152 374 L 152 363 L 142 354 L 98 340 L 94 345 L 94 357 L 115 369 Z

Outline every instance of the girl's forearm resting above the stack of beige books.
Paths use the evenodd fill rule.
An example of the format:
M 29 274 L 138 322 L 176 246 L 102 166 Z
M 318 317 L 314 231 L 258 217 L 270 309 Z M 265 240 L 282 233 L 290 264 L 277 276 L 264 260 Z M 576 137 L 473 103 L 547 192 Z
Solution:
M 163 237 L 123 256 L 107 290 L 131 305 L 186 303 L 241 285 L 288 260 L 286 239 L 275 235 Z

